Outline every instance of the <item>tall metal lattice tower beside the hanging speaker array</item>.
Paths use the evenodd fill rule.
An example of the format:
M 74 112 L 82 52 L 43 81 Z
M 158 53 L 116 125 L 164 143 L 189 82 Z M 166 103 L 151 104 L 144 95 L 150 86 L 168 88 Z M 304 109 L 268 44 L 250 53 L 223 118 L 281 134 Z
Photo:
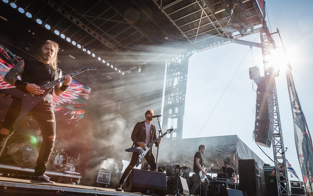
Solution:
M 280 114 L 276 92 L 275 72 L 273 68 L 269 66 L 269 62 L 267 61 L 267 59 L 269 59 L 268 57 L 270 56 L 271 50 L 275 49 L 275 42 L 271 34 L 269 33 L 269 29 L 267 28 L 267 26 L 265 26 L 260 31 L 260 36 L 263 54 L 265 87 L 267 92 L 269 111 L 269 130 L 272 132 L 272 146 L 275 160 L 278 195 L 290 195 L 285 158 L 285 147 L 283 134 L 281 131 Z M 284 180 L 280 180 L 281 176 L 284 178 Z

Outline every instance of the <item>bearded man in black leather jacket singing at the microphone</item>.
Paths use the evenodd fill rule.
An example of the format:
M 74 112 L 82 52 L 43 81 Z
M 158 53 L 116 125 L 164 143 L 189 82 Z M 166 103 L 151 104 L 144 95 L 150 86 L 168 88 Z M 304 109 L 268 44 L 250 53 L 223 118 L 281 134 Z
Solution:
M 131 133 L 131 140 L 133 140 L 134 142 L 133 146 L 135 147 L 140 146 L 144 148 L 146 147 L 146 143 L 149 143 L 152 140 L 156 139 L 156 127 L 153 124 L 151 124 L 151 121 L 153 120 L 152 116 L 153 116 L 153 110 L 148 109 L 145 113 L 146 120 L 142 122 L 137 122 L 137 124 L 135 125 L 133 132 Z M 161 141 L 161 138 L 160 138 L 160 141 Z M 157 142 L 155 144 L 156 146 L 158 146 Z M 133 155 L 131 157 L 131 162 L 125 169 L 120 179 L 119 185 L 115 189 L 116 191 L 123 190 L 122 186 L 124 184 L 124 181 L 126 177 L 129 175 L 129 173 L 131 172 L 131 170 L 135 167 L 137 159 L 138 159 L 138 155 L 139 154 L 137 152 L 133 152 Z M 152 148 L 146 154 L 145 159 L 150 165 L 151 170 L 156 171 L 156 158 L 154 154 L 152 153 Z

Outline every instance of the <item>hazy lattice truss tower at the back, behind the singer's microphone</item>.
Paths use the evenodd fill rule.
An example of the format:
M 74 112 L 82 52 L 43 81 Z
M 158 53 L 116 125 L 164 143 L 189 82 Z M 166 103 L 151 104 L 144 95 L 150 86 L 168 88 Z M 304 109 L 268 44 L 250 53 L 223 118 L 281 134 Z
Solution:
M 193 52 L 187 52 L 167 61 L 162 129 L 173 128 L 172 133 L 167 134 L 168 138 L 182 139 L 188 61 Z

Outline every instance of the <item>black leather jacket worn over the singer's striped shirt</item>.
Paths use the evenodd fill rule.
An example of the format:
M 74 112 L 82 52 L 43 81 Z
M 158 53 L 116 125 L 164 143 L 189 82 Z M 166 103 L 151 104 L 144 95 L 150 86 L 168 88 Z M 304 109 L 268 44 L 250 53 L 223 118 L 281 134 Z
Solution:
M 156 127 L 153 124 L 151 124 L 150 141 L 152 141 L 154 139 L 156 139 Z M 138 142 L 138 141 L 141 141 L 141 142 L 146 141 L 145 121 L 138 122 L 135 125 L 133 132 L 131 133 L 131 140 L 133 140 L 135 146 L 138 146 L 136 144 L 136 142 Z M 156 146 L 158 146 L 157 142 L 155 144 L 156 144 Z

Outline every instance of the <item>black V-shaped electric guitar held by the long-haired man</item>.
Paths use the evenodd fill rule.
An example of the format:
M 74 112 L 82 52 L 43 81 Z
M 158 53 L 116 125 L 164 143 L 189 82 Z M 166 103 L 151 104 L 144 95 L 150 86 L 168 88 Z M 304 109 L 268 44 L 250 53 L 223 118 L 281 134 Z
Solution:
M 73 77 L 76 76 L 82 72 L 89 71 L 89 70 L 95 70 L 97 69 L 96 67 L 83 67 L 73 73 L 70 73 L 69 76 Z M 34 95 L 33 93 L 25 93 L 18 88 L 6 88 L 6 89 L 1 89 L 0 94 L 4 94 L 3 98 L 9 98 L 9 97 L 16 97 L 22 99 L 22 105 L 21 105 L 21 111 L 16 119 L 13 127 L 15 128 L 16 125 L 21 121 L 21 119 L 24 118 L 24 116 L 31 110 L 33 107 L 42 99 L 44 98 L 45 95 L 50 93 L 55 85 L 59 84 L 60 82 L 63 82 L 65 80 L 65 77 L 59 78 L 57 80 L 54 80 L 53 82 L 49 82 L 47 84 L 44 84 L 40 86 L 41 90 L 44 90 L 44 94 L 42 95 Z

